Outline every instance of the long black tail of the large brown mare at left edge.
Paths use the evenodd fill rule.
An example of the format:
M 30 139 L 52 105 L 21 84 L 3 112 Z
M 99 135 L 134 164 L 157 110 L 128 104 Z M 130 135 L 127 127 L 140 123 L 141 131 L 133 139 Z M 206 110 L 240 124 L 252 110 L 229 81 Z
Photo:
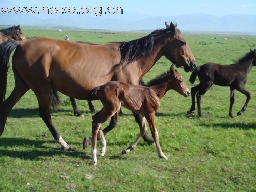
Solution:
M 0 114 L 2 113 L 2 104 L 5 100 L 10 55 L 17 46 L 19 44 L 16 41 L 7 41 L 0 44 Z

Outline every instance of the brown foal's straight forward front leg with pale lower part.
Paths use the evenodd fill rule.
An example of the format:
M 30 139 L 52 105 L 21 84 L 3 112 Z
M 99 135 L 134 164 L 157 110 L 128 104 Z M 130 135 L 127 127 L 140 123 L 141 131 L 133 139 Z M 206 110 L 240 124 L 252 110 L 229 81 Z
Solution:
M 156 143 L 156 149 L 157 149 L 157 153 L 158 156 L 160 158 L 164 158 L 165 160 L 168 159 L 168 157 L 165 156 L 165 154 L 162 152 L 160 143 L 159 143 L 159 136 L 158 136 L 158 131 L 156 129 L 156 125 L 155 125 L 155 113 L 151 113 L 148 116 L 146 116 L 147 122 L 149 122 L 149 127 L 150 127 L 150 131 L 152 134 L 152 137 L 155 140 Z

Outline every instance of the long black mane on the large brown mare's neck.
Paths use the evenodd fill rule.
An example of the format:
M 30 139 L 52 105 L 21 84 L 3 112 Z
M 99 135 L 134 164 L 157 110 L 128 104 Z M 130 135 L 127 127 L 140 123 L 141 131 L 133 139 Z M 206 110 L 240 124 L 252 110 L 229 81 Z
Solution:
M 140 39 L 135 39 L 128 42 L 122 42 L 119 46 L 120 54 L 121 54 L 121 60 L 118 64 L 116 64 L 108 74 L 111 72 L 117 70 L 124 62 L 127 62 L 125 64 L 126 67 L 131 62 L 136 61 L 137 59 L 150 54 L 153 49 L 154 45 L 154 39 L 158 35 L 162 35 L 166 33 L 167 31 L 171 31 L 170 28 L 165 29 L 156 29 L 155 31 L 151 32 L 149 35 L 142 37 Z

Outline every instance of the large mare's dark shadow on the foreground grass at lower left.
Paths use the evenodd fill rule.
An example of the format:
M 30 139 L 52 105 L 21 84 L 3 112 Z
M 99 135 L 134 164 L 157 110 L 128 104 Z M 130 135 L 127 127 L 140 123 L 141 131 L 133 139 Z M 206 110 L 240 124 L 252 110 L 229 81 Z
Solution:
M 55 143 L 54 141 L 38 141 L 38 140 L 29 140 L 21 138 L 0 138 L 1 147 L 14 147 L 13 150 L 0 150 L 0 156 L 9 156 L 25 160 L 40 160 L 39 157 L 45 156 L 69 156 L 69 157 L 79 157 L 83 159 L 90 159 L 90 156 L 85 155 L 84 152 L 78 151 L 62 151 L 58 148 L 46 147 L 42 144 L 44 143 Z M 26 145 L 31 145 L 33 148 L 42 148 L 44 150 L 20 150 L 19 146 L 25 147 Z M 46 150 L 45 150 L 46 149 Z M 28 149 L 29 150 L 29 149 Z

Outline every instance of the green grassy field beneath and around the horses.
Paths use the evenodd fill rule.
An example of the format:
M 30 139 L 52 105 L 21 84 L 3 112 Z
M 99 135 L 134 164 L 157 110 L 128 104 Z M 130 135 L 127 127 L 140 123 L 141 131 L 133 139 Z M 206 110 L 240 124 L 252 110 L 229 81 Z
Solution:
M 23 32 L 27 39 L 39 36 L 64 39 L 68 34 L 70 41 L 99 44 L 129 41 L 145 35 L 79 30 L 60 33 L 50 29 L 23 29 Z M 205 62 L 231 64 L 250 48 L 256 48 L 255 36 L 183 36 L 197 65 Z M 149 81 L 170 66 L 170 61 L 162 57 L 144 79 Z M 190 73 L 183 69 L 178 71 L 189 88 L 195 86 L 188 82 Z M 14 87 L 12 71 L 7 82 L 9 95 Z M 37 100 L 30 90 L 12 109 L 9 125 L 0 137 L 0 191 L 69 191 L 71 184 L 74 191 L 256 191 L 255 85 L 256 67 L 253 67 L 246 84 L 252 98 L 244 114 L 234 119 L 228 116 L 229 87 L 214 85 L 204 95 L 203 118 L 197 116 L 197 111 L 186 115 L 191 97 L 167 92 L 156 117 L 162 150 L 170 158 L 167 161 L 158 158 L 155 146 L 142 140 L 134 151 L 121 155 L 139 134 L 132 113 L 123 109 L 125 115 L 106 135 L 106 155 L 98 155 L 97 166 L 91 163 L 90 148 L 82 150 L 83 138 L 92 134 L 92 115 L 87 102 L 77 100 L 84 118 L 73 116 L 71 103 L 65 95 L 61 95 L 59 111 L 51 113 L 57 130 L 75 149 L 65 152 L 59 149 L 39 117 Z M 244 95 L 236 93 L 234 115 L 245 100 Z M 101 103 L 93 103 L 99 111 Z

